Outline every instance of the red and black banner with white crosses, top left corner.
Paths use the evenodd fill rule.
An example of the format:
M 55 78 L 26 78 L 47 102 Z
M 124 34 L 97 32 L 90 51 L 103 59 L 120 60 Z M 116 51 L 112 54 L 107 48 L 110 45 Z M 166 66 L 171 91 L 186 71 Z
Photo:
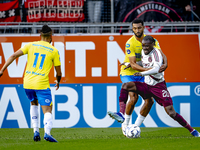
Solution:
M 0 22 L 21 22 L 19 1 L 0 3 Z

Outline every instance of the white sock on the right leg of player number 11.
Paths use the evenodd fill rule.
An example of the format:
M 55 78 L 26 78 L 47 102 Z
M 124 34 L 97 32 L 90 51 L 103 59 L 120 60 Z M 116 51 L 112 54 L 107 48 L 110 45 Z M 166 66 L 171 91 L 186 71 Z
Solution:
M 44 132 L 51 135 L 51 129 L 53 126 L 52 122 L 52 114 L 50 112 L 47 112 L 44 114 Z

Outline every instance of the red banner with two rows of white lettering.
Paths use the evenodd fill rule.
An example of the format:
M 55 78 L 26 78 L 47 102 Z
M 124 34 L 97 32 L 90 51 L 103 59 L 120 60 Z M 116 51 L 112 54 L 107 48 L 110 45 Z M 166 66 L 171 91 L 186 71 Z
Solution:
M 26 0 L 27 22 L 81 22 L 84 0 Z

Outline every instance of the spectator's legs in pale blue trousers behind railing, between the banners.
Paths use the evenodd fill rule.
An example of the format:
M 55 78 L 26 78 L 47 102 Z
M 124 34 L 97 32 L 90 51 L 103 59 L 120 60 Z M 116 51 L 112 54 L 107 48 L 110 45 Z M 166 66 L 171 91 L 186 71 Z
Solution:
M 100 23 L 103 10 L 103 0 L 87 0 L 88 22 Z M 99 27 L 90 27 L 90 33 L 99 33 Z

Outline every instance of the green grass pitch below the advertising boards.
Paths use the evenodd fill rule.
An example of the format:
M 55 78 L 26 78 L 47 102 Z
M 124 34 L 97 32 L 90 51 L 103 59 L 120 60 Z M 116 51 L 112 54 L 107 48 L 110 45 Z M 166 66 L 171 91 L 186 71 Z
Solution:
M 195 128 L 200 131 L 200 127 Z M 121 128 L 56 128 L 58 143 L 33 141 L 32 129 L 0 129 L 0 150 L 199 150 L 200 138 L 184 128 L 141 128 L 141 137 L 126 138 Z

